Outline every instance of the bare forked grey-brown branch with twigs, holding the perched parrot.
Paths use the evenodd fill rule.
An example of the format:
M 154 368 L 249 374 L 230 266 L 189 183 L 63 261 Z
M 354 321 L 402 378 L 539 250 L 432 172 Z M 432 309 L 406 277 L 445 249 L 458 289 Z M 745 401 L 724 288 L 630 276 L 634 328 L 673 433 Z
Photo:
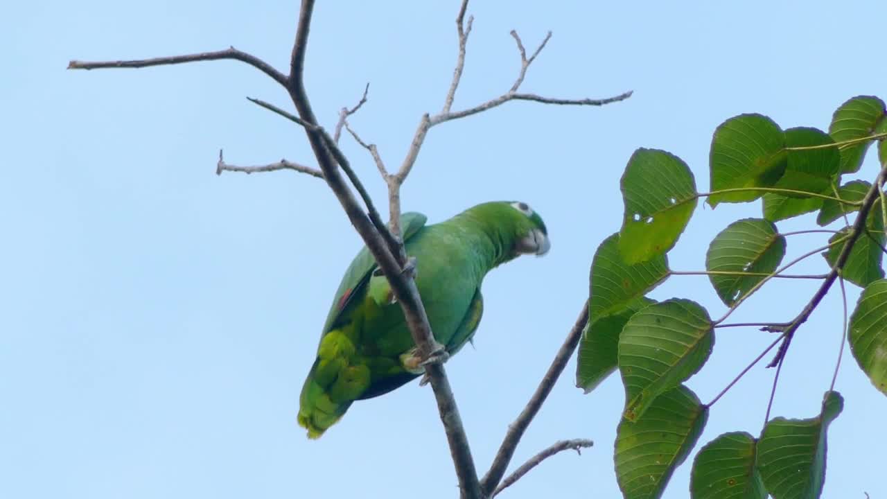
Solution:
M 109 62 L 82 62 L 72 60 L 68 67 L 72 69 L 149 67 L 182 64 L 201 60 L 235 59 L 256 67 L 264 74 L 271 76 L 272 79 L 287 89 L 298 115 L 293 115 L 292 113 L 260 99 L 250 99 L 250 101 L 302 126 L 309 139 L 311 149 L 318 160 L 319 170 L 299 163 L 287 162 L 286 160 L 260 166 L 234 166 L 226 164 L 220 154 L 219 162 L 216 166 L 216 172 L 240 171 L 253 173 L 257 171 L 296 170 L 326 180 L 327 185 L 330 186 L 331 190 L 341 203 L 342 209 L 345 210 L 351 224 L 366 243 L 367 249 L 373 254 L 382 273 L 384 273 L 389 280 L 396 300 L 401 304 L 404 310 L 404 319 L 412 333 L 413 341 L 423 358 L 429 362 L 428 365 L 425 366 L 426 375 L 428 376 L 435 392 L 438 412 L 441 421 L 443 422 L 443 427 L 450 445 L 453 463 L 459 478 L 461 495 L 471 499 L 482 499 L 484 494 L 482 493 L 482 488 L 477 479 L 477 472 L 468 446 L 467 436 L 461 424 L 459 411 L 456 407 L 456 401 L 452 395 L 449 381 L 447 380 L 443 366 L 441 365 L 441 362 L 445 357 L 442 355 L 443 347 L 436 343 L 435 338 L 431 333 L 428 325 L 428 317 L 420 299 L 419 290 L 413 280 L 413 262 L 411 258 L 406 257 L 403 242 L 400 240 L 400 188 L 403 185 L 405 178 L 412 170 L 412 166 L 416 162 L 428 130 L 435 124 L 459 119 L 468 115 L 474 115 L 492 107 L 497 107 L 509 100 L 530 100 L 544 104 L 559 105 L 601 106 L 608 104 L 609 102 L 627 99 L 631 95 L 631 92 L 626 92 L 608 99 L 555 99 L 531 93 L 518 93 L 517 90 L 522 84 L 528 68 L 533 60 L 536 59 L 540 51 L 546 46 L 551 37 L 551 33 L 546 36 L 543 42 L 539 44 L 536 51 L 534 51 L 528 58 L 520 37 L 513 32 L 512 36 L 514 36 L 518 45 L 518 51 L 521 54 L 521 70 L 512 85 L 512 88 L 502 96 L 499 96 L 496 99 L 491 99 L 486 103 L 455 113 L 451 112 L 455 94 L 459 88 L 459 82 L 465 67 L 467 38 L 470 35 L 473 26 L 473 18 L 471 16 L 468 17 L 467 23 L 465 20 L 467 4 L 468 0 L 462 0 L 459 14 L 456 19 L 459 36 L 459 55 L 456 67 L 453 70 L 450 87 L 445 95 L 442 111 L 440 114 L 433 117 L 428 114 L 421 117 L 419 126 L 413 135 L 410 148 L 404 157 L 404 162 L 394 174 L 388 173 L 388 170 L 384 167 L 384 164 L 381 161 L 381 156 L 376 147 L 372 144 L 366 144 L 357 136 L 357 133 L 349 128 L 348 117 L 357 112 L 357 109 L 365 103 L 368 85 L 365 88 L 363 97 L 358 101 L 357 105 L 351 108 L 343 107 L 341 109 L 339 121 L 336 123 L 333 136 L 330 136 L 330 134 L 318 124 L 317 117 L 311 109 L 310 100 L 308 99 L 307 91 L 304 88 L 303 71 L 314 0 L 302 0 L 302 7 L 299 11 L 298 20 L 296 22 L 296 32 L 293 51 L 290 58 L 289 75 L 283 75 L 262 59 L 258 59 L 246 52 L 237 51 L 233 47 L 225 51 L 202 52 L 157 59 L 119 60 Z M 358 144 L 370 151 L 371 155 L 373 155 L 373 160 L 376 162 L 377 168 L 379 168 L 382 177 L 386 180 L 389 187 L 390 220 L 388 226 L 385 226 L 381 221 L 381 217 L 378 211 L 375 210 L 373 202 L 366 193 L 364 186 L 361 184 L 359 178 L 357 178 L 354 170 L 350 168 L 348 159 L 341 153 L 341 150 L 338 147 L 342 128 L 347 128 L 357 140 Z M 361 196 L 366 207 L 366 212 L 361 209 L 357 199 L 354 197 L 354 194 L 352 194 L 348 183 L 342 178 L 338 167 L 341 167 L 341 170 L 345 172 L 345 175 L 349 178 L 349 183 L 354 186 L 357 193 Z M 583 313 L 580 315 L 579 321 L 577 321 L 577 326 L 570 332 L 570 336 L 565 344 L 561 346 L 561 350 L 555 356 L 552 366 L 548 369 L 545 378 L 539 384 L 536 393 L 534 393 L 533 397 L 530 399 L 527 407 L 523 409 L 521 415 L 509 429 L 509 432 L 507 432 L 506 439 L 503 441 L 502 447 L 499 448 L 498 455 L 491 467 L 491 471 L 487 473 L 487 478 L 483 480 L 483 492 L 485 495 L 490 495 L 491 492 L 496 489 L 498 482 L 502 479 L 508 462 L 514 454 L 514 448 L 516 448 L 518 441 L 521 439 L 522 433 L 530 424 L 533 416 L 538 412 L 538 409 L 541 407 L 548 393 L 551 392 L 552 386 L 557 377 L 560 376 L 570 354 L 576 349 L 578 339 L 581 336 L 582 326 L 585 324 L 585 321 L 587 321 L 587 317 L 588 306 L 586 302 Z

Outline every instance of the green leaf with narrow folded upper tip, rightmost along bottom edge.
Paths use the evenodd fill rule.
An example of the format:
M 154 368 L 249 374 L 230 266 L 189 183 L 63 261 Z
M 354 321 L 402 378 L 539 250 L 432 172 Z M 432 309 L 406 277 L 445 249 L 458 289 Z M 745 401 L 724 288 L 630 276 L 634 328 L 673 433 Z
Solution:
M 757 442 L 757 468 L 773 499 L 815 499 L 826 478 L 828 424 L 844 408 L 838 392 L 827 392 L 820 416 L 774 417 Z

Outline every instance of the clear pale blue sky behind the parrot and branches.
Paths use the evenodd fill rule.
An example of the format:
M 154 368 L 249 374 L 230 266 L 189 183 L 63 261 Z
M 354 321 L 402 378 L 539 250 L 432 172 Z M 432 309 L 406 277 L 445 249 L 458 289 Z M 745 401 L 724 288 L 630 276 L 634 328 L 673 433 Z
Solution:
M 428 388 L 355 404 L 323 439 L 295 424 L 302 380 L 341 272 L 359 248 L 326 186 L 293 172 L 216 177 L 240 164 L 312 162 L 304 134 L 250 104 L 287 106 L 270 79 L 237 62 L 66 71 L 68 59 L 129 59 L 229 45 L 286 69 L 296 2 L 17 2 L 0 44 L 0 497 L 240 498 L 458 495 Z M 318 2 L 307 86 L 327 126 L 352 124 L 398 164 L 419 117 L 443 103 L 458 2 Z M 883 0 L 848 2 L 476 2 L 454 108 L 506 91 L 518 69 L 508 31 L 553 38 L 524 83 L 553 97 L 632 99 L 603 108 L 510 103 L 433 129 L 404 187 L 431 221 L 477 202 L 519 199 L 545 218 L 553 249 L 484 283 L 475 348 L 447 363 L 475 461 L 485 471 L 506 426 L 548 366 L 587 296 L 597 244 L 616 231 L 618 179 L 636 147 L 678 154 L 708 187 L 711 133 L 745 112 L 784 128 L 827 128 L 859 94 L 887 98 Z M 12 48 L 12 50 L 9 50 Z M 373 162 L 344 150 L 376 199 Z M 875 163 L 863 167 L 874 177 Z M 382 203 L 384 204 L 384 203 Z M 671 253 L 701 270 L 711 238 L 759 203 L 700 205 Z M 813 224 L 812 217 L 781 230 Z M 789 256 L 822 243 L 795 236 Z M 798 272 L 823 272 L 812 258 Z M 785 321 L 812 294 L 779 282 L 737 321 Z M 849 286 L 851 306 L 859 290 Z M 704 277 L 654 297 L 722 313 Z M 841 333 L 833 292 L 798 333 L 774 415 L 809 417 L 828 389 Z M 689 385 L 710 400 L 771 337 L 718 332 Z M 844 414 L 828 440 L 826 497 L 887 496 L 887 398 L 845 356 Z M 515 464 L 554 440 L 589 438 L 508 497 L 616 497 L 612 450 L 624 395 L 617 376 L 574 387 L 575 359 L 530 427 Z M 700 446 L 757 435 L 773 371 L 755 368 L 712 408 Z M 690 462 L 667 497 L 687 496 Z

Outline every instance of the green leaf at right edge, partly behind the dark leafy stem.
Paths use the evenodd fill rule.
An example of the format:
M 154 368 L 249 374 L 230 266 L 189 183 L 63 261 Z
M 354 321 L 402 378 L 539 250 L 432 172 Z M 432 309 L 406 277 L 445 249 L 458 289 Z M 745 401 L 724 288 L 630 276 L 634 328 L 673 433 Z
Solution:
M 831 236 L 828 242 L 835 242 L 838 239 L 850 234 L 851 227 L 845 227 L 837 234 Z M 835 266 L 838 256 L 844 250 L 846 242 L 838 243 L 822 254 L 826 258 L 829 266 Z M 884 271 L 881 268 L 883 260 L 884 246 L 884 230 L 883 218 L 881 218 L 881 202 L 875 202 L 872 210 L 868 213 L 866 219 L 866 227 L 860 234 L 860 237 L 853 243 L 850 250 L 850 256 L 844 264 L 842 275 L 847 281 L 865 288 L 870 282 L 883 279 Z

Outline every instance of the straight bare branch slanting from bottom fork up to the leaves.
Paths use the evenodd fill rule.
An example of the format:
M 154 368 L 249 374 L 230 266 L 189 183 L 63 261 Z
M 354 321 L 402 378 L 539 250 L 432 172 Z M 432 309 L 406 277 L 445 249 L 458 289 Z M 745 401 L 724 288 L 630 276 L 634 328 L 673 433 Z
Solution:
M 487 474 L 481 480 L 484 495 L 490 496 L 498 487 L 498 483 L 505 475 L 508 463 L 511 462 L 511 458 L 514 455 L 514 449 L 517 448 L 517 444 L 521 441 L 523 432 L 527 431 L 527 428 L 533 421 L 533 417 L 536 416 L 539 408 L 546 401 L 548 394 L 551 393 L 554 382 L 561 376 L 563 368 L 567 366 L 567 361 L 573 355 L 573 352 L 576 351 L 586 322 L 588 322 L 588 301 L 585 301 L 585 306 L 582 307 L 582 312 L 579 313 L 576 323 L 573 324 L 573 329 L 569 330 L 563 345 L 554 355 L 554 360 L 552 360 L 551 366 L 548 367 L 546 375 L 542 377 L 536 392 L 533 392 L 530 401 L 527 402 L 520 416 L 517 416 L 514 423 L 508 425 L 505 439 L 502 440 L 502 445 L 498 448 L 496 457 L 490 466 L 490 471 L 487 471 Z

